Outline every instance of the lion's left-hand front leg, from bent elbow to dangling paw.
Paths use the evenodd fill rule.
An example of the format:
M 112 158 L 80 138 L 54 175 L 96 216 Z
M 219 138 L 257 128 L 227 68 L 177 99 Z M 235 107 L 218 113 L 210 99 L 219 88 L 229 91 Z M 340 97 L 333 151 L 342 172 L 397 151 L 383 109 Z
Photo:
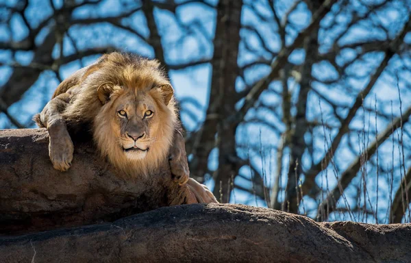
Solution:
M 49 156 L 53 168 L 63 172 L 70 168 L 74 151 L 66 121 L 61 115 L 69 100 L 69 94 L 61 94 L 49 101 L 40 114 L 34 116 L 38 126 L 46 127 L 49 132 Z

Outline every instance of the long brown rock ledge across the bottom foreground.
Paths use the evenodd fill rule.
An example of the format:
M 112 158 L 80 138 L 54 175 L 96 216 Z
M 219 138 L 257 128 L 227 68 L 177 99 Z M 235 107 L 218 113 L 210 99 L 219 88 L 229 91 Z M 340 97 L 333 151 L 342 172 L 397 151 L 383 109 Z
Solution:
M 247 205 L 160 208 L 0 238 L 0 262 L 410 262 L 411 224 L 316 223 Z

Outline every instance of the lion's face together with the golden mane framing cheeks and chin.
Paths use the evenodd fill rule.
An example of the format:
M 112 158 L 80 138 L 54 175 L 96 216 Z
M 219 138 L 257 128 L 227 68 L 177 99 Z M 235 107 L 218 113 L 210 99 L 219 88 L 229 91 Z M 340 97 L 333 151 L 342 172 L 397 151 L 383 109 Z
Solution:
M 94 138 L 101 153 L 126 172 L 157 168 L 167 160 L 173 140 L 177 121 L 173 101 L 164 99 L 164 87 L 110 89 L 110 99 L 94 121 Z

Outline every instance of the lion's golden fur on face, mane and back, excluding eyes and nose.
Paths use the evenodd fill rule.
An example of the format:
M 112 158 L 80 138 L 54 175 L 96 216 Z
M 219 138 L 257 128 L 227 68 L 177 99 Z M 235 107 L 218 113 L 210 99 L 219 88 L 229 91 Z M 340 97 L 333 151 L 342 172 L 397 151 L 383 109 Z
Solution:
M 55 98 L 69 94 L 69 103 L 61 112 L 62 118 L 71 126 L 82 127 L 83 123 L 91 123 L 101 155 L 130 175 L 153 171 L 160 162 L 168 159 L 177 114 L 173 89 L 159 66 L 155 60 L 127 53 L 110 53 L 64 80 L 53 95 Z M 129 112 L 129 120 L 119 118 L 119 109 Z M 141 114 L 147 109 L 152 109 L 154 114 L 141 121 Z M 46 118 L 42 113 L 35 120 L 40 127 L 49 128 L 46 123 L 51 121 Z M 127 154 L 124 147 L 132 141 L 130 136 L 125 136 L 132 118 L 133 122 L 142 123 L 140 126 L 147 131 L 138 142 L 149 150 L 138 153 L 138 158 L 133 158 L 132 153 Z

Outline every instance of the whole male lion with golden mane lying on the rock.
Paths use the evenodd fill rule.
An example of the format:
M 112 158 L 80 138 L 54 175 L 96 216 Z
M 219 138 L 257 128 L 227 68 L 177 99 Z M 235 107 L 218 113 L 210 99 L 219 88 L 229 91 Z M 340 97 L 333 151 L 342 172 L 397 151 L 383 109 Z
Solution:
M 187 184 L 199 203 L 217 202 L 189 177 L 174 90 L 157 60 L 105 54 L 65 79 L 34 121 L 47 128 L 50 160 L 59 171 L 73 160 L 69 130 L 90 131 L 101 156 L 125 175 L 147 175 L 169 158 L 174 181 Z

